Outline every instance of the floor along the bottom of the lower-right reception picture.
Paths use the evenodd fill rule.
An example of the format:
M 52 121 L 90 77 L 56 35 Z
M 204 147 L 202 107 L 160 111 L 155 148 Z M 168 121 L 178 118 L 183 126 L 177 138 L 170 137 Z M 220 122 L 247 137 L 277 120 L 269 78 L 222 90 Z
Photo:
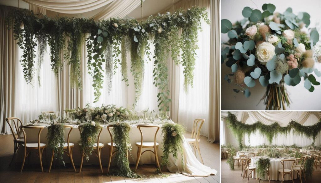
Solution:
M 247 179 L 242 180 L 243 177 L 241 177 L 241 167 L 240 170 L 238 170 L 238 166 L 234 166 L 235 170 L 230 170 L 230 166 L 226 163 L 226 159 L 221 161 L 221 182 L 222 183 L 247 183 Z M 319 169 L 319 166 L 317 166 L 318 171 L 313 172 L 313 179 L 307 179 L 308 183 L 321 183 L 321 172 Z M 258 180 L 253 179 L 250 177 L 249 183 L 258 183 Z M 263 182 L 262 180 L 260 183 Z M 265 183 L 268 183 L 268 180 L 264 180 Z M 300 179 L 294 179 L 295 183 L 300 183 Z M 305 183 L 306 181 L 302 179 L 302 183 Z M 281 183 L 281 180 L 279 181 L 273 181 L 271 180 L 271 183 Z M 292 183 L 292 180 L 289 181 L 283 181 L 283 183 Z

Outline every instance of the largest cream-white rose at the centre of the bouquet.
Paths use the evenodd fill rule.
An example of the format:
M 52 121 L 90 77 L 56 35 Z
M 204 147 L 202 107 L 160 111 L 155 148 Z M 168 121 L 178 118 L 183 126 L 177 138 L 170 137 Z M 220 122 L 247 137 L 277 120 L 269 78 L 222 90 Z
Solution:
M 263 42 L 256 48 L 256 57 L 262 65 L 272 60 L 275 47 L 269 42 Z

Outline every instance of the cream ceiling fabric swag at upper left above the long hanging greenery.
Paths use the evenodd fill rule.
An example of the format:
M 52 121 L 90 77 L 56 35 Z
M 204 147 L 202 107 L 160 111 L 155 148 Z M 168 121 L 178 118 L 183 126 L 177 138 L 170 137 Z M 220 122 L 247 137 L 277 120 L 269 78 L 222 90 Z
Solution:
M 96 10 L 114 0 L 23 0 L 50 11 L 59 13 L 83 13 Z

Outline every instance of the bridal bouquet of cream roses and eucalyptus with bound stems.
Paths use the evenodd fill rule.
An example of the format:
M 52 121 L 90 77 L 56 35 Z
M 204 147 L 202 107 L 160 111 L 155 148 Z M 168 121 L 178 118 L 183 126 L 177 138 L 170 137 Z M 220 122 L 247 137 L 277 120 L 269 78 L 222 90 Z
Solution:
M 276 13 L 273 4 L 263 4 L 262 9 L 245 7 L 245 19 L 235 24 L 221 20 L 221 33 L 230 38 L 221 47 L 221 63 L 231 68 L 224 79 L 239 86 L 234 92 L 245 97 L 258 79 L 266 87 L 262 98 L 266 110 L 285 110 L 290 99 L 284 83 L 296 86 L 302 81 L 310 92 L 320 85 L 313 75 L 321 76 L 314 68 L 321 62 L 319 34 L 316 28 L 308 28 L 306 12 L 296 15 L 288 8 L 283 14 Z

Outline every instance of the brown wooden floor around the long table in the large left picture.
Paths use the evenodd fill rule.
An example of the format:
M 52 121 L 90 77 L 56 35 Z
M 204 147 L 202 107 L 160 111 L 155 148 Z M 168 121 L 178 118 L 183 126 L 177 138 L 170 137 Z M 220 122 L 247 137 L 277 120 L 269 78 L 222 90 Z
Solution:
M 186 134 L 186 137 L 189 137 Z M 137 173 L 144 174 L 147 178 L 144 179 L 130 179 L 117 176 L 107 176 L 100 172 L 99 166 L 83 166 L 81 173 L 75 173 L 69 164 L 65 167 L 52 168 L 48 173 L 48 166 L 43 161 L 44 171 L 40 172 L 40 165 L 27 165 L 22 172 L 20 172 L 21 164 L 11 165 L 13 155 L 13 137 L 12 135 L 0 135 L 0 183 L 128 183 L 128 182 L 142 182 L 142 183 L 218 183 L 220 182 L 220 146 L 219 144 L 211 144 L 206 141 L 206 137 L 201 137 L 200 149 L 204 164 L 218 171 L 218 175 L 211 175 L 208 177 L 188 177 L 182 174 L 175 174 L 170 172 L 163 172 L 166 177 L 157 175 L 155 173 L 155 165 L 139 165 Z M 34 160 L 36 162 L 37 160 Z M 31 163 L 30 163 L 31 164 Z M 131 165 L 134 169 L 134 165 Z M 76 166 L 77 171 L 79 166 Z M 106 165 L 103 167 L 107 171 Z

